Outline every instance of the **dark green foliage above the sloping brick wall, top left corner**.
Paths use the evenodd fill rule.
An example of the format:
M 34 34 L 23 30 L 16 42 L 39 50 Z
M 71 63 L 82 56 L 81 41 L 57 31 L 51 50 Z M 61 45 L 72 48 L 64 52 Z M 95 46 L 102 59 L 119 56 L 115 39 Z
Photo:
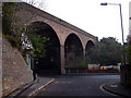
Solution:
M 15 13 L 20 10 L 17 3 L 4 2 L 2 7 L 2 30 L 5 35 L 14 35 L 13 28 L 17 17 Z

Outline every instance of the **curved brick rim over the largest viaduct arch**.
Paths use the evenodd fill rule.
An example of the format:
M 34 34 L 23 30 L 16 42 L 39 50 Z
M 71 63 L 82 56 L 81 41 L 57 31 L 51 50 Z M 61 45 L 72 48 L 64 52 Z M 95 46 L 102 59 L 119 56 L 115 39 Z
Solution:
M 46 20 L 46 19 L 44 19 L 44 17 L 35 16 L 34 19 L 29 20 L 29 21 L 26 23 L 26 25 L 29 25 L 29 24 L 32 24 L 32 23 L 34 23 L 34 22 L 44 22 L 44 23 L 46 23 L 47 25 L 49 25 L 49 26 L 55 30 L 55 33 L 56 33 L 56 35 L 57 35 L 57 37 L 58 37 L 58 39 L 59 39 L 60 45 L 62 45 L 62 41 L 60 40 L 61 38 L 60 38 L 60 35 L 59 35 L 59 32 L 58 32 L 57 28 L 53 26 L 53 24 L 51 24 L 51 22 L 49 22 L 48 20 Z

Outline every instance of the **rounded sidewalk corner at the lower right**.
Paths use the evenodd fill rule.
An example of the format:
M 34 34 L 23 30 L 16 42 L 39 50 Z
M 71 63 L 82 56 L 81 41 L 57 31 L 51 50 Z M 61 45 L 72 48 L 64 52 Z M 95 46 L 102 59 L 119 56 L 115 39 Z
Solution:
M 131 98 L 131 88 L 126 88 L 120 83 L 104 84 L 103 88 L 111 94 L 122 96 L 126 98 Z

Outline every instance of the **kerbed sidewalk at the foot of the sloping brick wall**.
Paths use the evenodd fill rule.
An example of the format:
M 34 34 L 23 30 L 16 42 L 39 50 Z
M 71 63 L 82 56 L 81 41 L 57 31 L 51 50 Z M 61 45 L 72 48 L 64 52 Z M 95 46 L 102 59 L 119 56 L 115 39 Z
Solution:
M 11 98 L 14 96 L 20 96 L 20 97 L 21 96 L 35 96 L 39 91 L 41 91 L 44 88 L 49 86 L 52 82 L 55 82 L 53 78 L 49 78 L 49 77 L 43 77 L 40 79 L 39 78 L 40 77 L 38 77 L 36 81 L 27 84 L 26 86 L 19 88 L 14 93 L 10 94 L 7 98 Z

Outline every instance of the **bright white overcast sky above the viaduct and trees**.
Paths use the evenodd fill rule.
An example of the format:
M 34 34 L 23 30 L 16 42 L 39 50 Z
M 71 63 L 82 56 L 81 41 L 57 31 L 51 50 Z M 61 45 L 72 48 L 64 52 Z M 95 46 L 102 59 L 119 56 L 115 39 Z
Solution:
M 129 34 L 130 0 L 38 0 L 41 9 L 76 27 L 97 36 L 116 37 L 122 41 L 119 5 L 100 5 L 102 2 L 121 3 L 124 39 Z

